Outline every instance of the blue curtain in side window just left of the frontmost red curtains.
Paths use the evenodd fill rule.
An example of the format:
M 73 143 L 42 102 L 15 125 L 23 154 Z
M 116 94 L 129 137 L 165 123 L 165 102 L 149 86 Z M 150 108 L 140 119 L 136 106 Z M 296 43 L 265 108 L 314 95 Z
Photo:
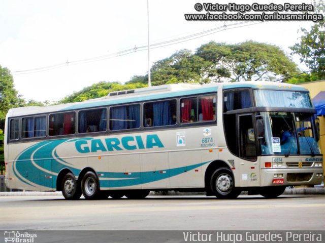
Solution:
M 169 101 L 153 103 L 153 126 L 172 124 L 171 106 Z

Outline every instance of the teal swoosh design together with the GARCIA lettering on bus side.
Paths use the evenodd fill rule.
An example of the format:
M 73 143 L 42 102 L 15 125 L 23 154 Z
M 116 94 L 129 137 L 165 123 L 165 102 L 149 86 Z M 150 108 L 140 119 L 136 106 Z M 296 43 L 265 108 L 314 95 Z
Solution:
M 79 143 L 79 145 L 76 145 L 76 143 L 79 141 L 82 142 Z M 105 144 L 103 141 L 105 141 Z M 82 150 L 83 153 L 94 151 L 111 151 L 111 149 L 132 150 L 133 146 L 139 149 L 164 147 L 163 143 L 155 134 L 147 135 L 146 139 L 144 140 L 141 138 L 141 136 L 126 136 L 122 137 L 120 140 L 117 138 L 111 138 L 111 140 L 104 139 L 103 141 L 101 139 L 93 138 L 74 138 L 46 140 L 36 143 L 18 154 L 13 163 L 13 173 L 17 179 L 31 187 L 43 186 L 49 190 L 55 190 L 55 182 L 61 170 L 69 169 L 76 176 L 78 176 L 81 172 L 80 169 L 76 168 L 78 165 L 73 165 L 69 163 L 69 160 L 67 161 L 66 158 L 59 156 L 58 148 L 68 148 L 68 143 L 74 143 L 74 146 L 80 146 L 79 149 Z M 169 177 L 189 172 L 210 162 L 211 161 L 205 161 L 203 163 L 184 167 L 162 168 L 159 170 L 164 171 L 165 173 L 159 173 L 158 171 L 139 171 L 132 173 L 125 173 L 125 171 L 98 171 L 97 173 L 104 175 L 100 178 L 101 186 L 118 188 L 167 179 Z

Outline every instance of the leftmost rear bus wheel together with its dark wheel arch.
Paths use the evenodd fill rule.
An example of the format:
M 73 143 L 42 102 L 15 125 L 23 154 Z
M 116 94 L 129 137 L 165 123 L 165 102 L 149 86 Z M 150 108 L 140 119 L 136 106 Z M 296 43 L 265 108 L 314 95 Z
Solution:
M 75 175 L 70 170 L 62 170 L 57 178 L 56 187 L 62 191 L 67 200 L 77 200 L 81 196 L 81 188 Z

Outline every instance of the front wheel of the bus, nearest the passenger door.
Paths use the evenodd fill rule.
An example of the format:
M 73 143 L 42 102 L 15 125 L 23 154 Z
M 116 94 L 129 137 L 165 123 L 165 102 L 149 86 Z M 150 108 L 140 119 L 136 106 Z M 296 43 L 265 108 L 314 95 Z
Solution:
M 212 173 L 211 189 L 219 199 L 233 199 L 241 193 L 235 187 L 232 171 L 226 167 L 218 168 Z

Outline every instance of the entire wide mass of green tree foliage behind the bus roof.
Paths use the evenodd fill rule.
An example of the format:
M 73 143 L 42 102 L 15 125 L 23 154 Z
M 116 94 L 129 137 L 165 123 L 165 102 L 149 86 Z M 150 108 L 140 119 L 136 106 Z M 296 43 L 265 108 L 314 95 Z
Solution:
M 275 80 L 297 73 L 297 65 L 279 47 L 252 41 L 234 45 L 209 42 L 194 54 L 184 49 L 155 62 L 151 84 Z M 134 76 L 127 84 L 146 83 L 147 79 L 147 75 Z

